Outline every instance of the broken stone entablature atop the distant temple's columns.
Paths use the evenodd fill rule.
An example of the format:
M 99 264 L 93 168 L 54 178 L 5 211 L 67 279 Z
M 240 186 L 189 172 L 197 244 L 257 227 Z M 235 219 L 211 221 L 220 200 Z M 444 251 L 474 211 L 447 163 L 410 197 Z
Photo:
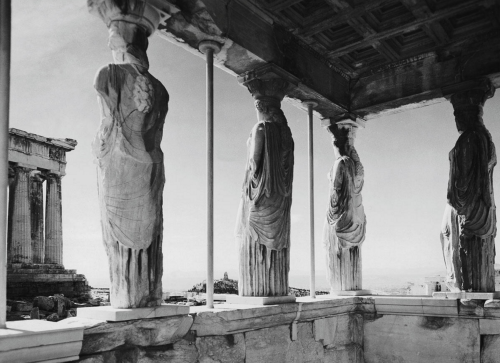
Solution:
M 18 129 L 9 131 L 9 164 L 66 175 L 66 152 L 77 145 L 73 139 L 52 139 Z

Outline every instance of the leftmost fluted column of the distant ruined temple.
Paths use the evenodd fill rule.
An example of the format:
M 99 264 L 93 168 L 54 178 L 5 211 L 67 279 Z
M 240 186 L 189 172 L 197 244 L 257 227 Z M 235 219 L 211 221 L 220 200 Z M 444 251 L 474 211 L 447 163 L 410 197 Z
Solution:
M 30 173 L 32 169 L 15 166 L 9 203 L 9 263 L 31 263 Z

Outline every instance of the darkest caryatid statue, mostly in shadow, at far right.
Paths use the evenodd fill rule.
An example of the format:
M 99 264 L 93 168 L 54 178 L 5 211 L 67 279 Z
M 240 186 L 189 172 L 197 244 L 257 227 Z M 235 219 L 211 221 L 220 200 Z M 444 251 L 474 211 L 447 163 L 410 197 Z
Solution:
M 451 103 L 460 134 L 450 151 L 448 204 L 441 228 L 446 285 L 452 292 L 495 291 L 495 145 L 483 123 L 483 105 L 493 97 L 489 80 L 455 93 Z

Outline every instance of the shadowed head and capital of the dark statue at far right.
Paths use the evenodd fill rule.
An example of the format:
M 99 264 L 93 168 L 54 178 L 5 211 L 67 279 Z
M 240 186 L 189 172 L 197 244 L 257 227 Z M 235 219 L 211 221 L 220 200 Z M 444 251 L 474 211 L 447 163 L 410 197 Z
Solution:
M 478 80 L 470 88 L 451 96 L 458 131 L 483 124 L 483 106 L 495 94 L 495 87 L 487 78 Z

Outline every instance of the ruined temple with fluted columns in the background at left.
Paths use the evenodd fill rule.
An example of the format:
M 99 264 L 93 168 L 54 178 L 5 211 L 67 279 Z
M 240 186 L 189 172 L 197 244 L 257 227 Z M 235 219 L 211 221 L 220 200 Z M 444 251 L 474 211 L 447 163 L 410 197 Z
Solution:
M 61 179 L 77 142 L 17 129 L 9 136 L 7 296 L 87 293 L 85 276 L 63 265 Z

